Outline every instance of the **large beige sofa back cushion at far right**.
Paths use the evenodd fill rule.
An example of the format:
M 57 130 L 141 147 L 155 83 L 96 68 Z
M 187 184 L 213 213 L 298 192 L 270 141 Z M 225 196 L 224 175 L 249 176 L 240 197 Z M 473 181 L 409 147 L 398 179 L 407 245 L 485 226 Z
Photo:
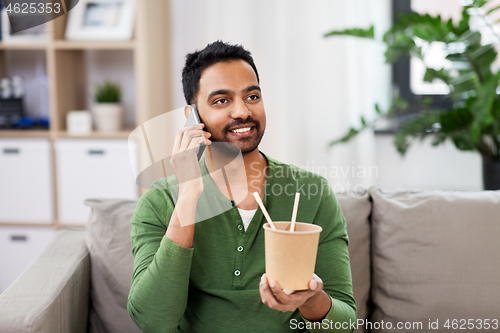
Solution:
M 500 191 L 370 195 L 373 323 L 500 319 Z

